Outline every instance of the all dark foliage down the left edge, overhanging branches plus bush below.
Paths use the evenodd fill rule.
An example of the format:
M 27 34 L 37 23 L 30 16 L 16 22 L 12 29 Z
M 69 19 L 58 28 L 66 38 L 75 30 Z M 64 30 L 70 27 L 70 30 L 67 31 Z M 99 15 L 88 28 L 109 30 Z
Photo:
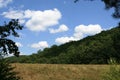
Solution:
M 19 56 L 19 50 L 15 42 L 7 37 L 13 35 L 19 37 L 16 30 L 22 30 L 23 26 L 19 24 L 19 20 L 12 19 L 9 23 L 4 26 L 0 26 L 0 80 L 20 80 L 17 73 L 13 71 L 12 67 L 6 60 L 4 56 L 7 54 L 14 54 Z

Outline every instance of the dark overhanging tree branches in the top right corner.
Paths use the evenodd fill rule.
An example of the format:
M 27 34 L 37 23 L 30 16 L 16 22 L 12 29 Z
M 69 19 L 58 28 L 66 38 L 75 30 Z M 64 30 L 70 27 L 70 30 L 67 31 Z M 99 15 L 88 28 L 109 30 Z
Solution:
M 78 2 L 79 0 L 74 0 L 74 2 Z M 94 0 L 85 0 L 85 1 L 94 1 Z M 113 17 L 120 18 L 120 0 L 101 0 L 105 3 L 106 9 L 114 8 Z

